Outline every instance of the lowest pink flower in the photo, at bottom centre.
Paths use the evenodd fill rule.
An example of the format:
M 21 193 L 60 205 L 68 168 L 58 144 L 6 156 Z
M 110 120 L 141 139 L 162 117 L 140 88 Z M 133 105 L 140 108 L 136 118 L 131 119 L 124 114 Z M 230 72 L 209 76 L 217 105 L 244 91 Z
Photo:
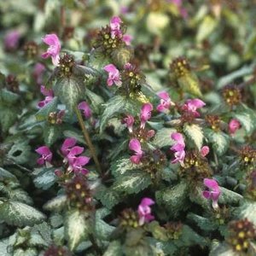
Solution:
M 139 215 L 139 225 L 148 223 L 154 219 L 154 216 L 151 214 L 150 206 L 154 205 L 154 201 L 148 197 L 144 197 L 140 205 L 137 207 L 137 213 Z

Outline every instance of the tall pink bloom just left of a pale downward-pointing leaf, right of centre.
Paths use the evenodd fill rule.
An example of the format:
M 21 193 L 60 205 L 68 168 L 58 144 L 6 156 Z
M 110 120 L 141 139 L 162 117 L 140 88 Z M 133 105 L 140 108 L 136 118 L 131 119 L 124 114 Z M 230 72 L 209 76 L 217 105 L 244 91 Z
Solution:
M 179 132 L 173 132 L 171 135 L 172 140 L 175 141 L 173 144 L 171 150 L 175 151 L 174 153 L 174 160 L 172 160 L 172 164 L 176 164 L 179 162 L 181 165 L 183 165 L 183 161 L 185 158 L 185 143 L 183 139 L 183 135 Z

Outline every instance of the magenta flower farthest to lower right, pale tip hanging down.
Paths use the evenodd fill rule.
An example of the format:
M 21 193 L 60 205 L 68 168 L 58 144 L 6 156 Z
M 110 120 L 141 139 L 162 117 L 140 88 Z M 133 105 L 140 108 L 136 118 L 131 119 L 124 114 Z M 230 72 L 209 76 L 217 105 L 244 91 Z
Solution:
M 212 207 L 214 209 L 218 208 L 218 197 L 221 194 L 221 191 L 218 187 L 218 182 L 211 178 L 204 178 L 204 184 L 208 190 L 204 190 L 202 195 L 208 200 L 212 200 Z

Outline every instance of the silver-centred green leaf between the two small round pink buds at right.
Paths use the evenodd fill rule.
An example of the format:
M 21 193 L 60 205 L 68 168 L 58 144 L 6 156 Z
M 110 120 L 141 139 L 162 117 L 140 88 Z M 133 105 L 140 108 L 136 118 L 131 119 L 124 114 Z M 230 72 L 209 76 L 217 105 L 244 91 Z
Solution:
M 212 131 L 211 129 L 205 129 L 205 134 L 216 153 L 223 155 L 229 147 L 230 137 L 222 131 Z

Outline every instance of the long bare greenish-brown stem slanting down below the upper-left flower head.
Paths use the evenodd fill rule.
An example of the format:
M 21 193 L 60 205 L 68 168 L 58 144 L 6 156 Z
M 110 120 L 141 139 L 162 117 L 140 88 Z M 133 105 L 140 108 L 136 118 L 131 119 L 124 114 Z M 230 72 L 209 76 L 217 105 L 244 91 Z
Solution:
M 84 125 L 83 117 L 82 117 L 78 107 L 75 107 L 74 110 L 75 110 L 75 113 L 77 114 L 77 117 L 79 119 L 79 125 L 81 127 L 82 132 L 83 132 L 85 143 L 89 147 L 90 154 L 92 155 L 92 158 L 95 161 L 96 168 L 97 168 L 99 173 L 102 173 L 102 168 L 101 168 L 100 162 L 99 162 L 99 160 L 97 158 L 97 155 L 96 155 L 96 150 L 95 150 L 93 144 L 90 141 L 90 135 L 89 135 L 89 132 L 87 131 L 87 129 Z

